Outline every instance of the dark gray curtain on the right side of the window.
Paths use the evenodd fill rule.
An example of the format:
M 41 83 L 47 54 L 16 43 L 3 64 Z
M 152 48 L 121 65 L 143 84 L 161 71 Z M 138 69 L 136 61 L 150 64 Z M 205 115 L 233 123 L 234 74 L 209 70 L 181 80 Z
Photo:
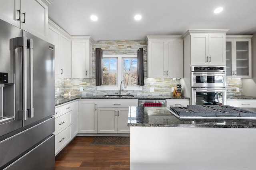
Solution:
M 137 85 L 144 86 L 143 48 L 139 48 L 137 56 Z

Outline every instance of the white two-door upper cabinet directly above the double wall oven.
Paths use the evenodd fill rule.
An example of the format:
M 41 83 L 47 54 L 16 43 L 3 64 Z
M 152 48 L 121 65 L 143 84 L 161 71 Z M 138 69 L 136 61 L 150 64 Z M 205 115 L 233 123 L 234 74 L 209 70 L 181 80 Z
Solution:
M 190 65 L 226 65 L 227 31 L 188 30 L 183 37 L 185 58 Z

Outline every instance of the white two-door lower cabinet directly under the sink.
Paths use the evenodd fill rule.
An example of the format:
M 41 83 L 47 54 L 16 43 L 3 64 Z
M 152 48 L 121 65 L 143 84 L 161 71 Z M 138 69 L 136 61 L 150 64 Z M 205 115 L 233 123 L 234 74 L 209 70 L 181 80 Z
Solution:
M 129 106 L 137 105 L 138 99 L 98 101 L 98 133 L 130 133 L 127 126 Z

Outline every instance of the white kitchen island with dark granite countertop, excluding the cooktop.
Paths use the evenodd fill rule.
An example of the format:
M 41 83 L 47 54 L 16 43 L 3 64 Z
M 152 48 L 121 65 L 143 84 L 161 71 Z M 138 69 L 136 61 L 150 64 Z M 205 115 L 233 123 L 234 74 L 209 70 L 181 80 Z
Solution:
M 131 170 L 252 170 L 256 120 L 182 120 L 166 108 L 130 107 Z

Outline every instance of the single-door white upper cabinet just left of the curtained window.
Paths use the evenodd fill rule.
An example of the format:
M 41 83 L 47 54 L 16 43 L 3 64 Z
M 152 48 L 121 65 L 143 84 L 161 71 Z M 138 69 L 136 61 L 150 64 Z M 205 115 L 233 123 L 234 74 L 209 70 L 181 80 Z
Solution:
M 92 44 L 90 36 L 72 37 L 72 78 L 92 77 Z

